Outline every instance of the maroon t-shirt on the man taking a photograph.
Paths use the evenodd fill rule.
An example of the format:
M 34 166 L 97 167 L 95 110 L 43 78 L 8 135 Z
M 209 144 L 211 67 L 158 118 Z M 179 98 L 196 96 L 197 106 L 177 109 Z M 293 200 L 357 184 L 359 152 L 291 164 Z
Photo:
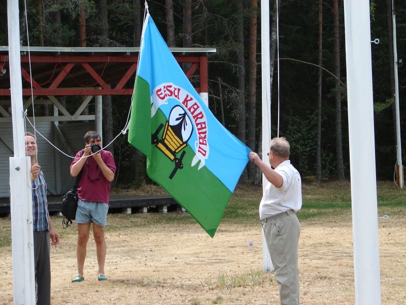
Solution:
M 114 163 L 113 155 L 108 150 L 100 150 L 101 160 L 113 172 L 116 172 L 116 164 Z M 72 166 L 82 157 L 82 150 L 78 151 Z M 101 169 L 98 167 L 96 160 L 93 157 L 88 157 L 83 165 L 82 177 L 79 181 L 78 197 L 83 201 L 105 202 L 109 203 L 110 197 L 110 181 L 108 181 Z

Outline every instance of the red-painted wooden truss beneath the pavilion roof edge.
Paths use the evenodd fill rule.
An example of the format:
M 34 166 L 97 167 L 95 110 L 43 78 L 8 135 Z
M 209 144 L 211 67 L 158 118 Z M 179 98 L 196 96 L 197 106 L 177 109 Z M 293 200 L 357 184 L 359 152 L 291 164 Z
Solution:
M 198 71 L 200 83 L 195 89 L 198 93 L 208 92 L 207 57 L 175 56 L 175 58 L 178 63 L 192 64 L 186 72 L 187 78 L 190 78 Z M 29 63 L 32 71 L 28 66 Z M 123 65 L 120 65 L 121 63 Z M 34 55 L 30 56 L 30 58 L 22 55 L 23 96 L 132 95 L 133 84 L 129 83 L 129 81 L 136 74 L 137 63 L 138 56 L 132 55 Z M 109 67 L 109 64 L 115 64 L 116 66 Z M 6 66 L 7 68 L 8 65 L 9 57 L 0 55 L 0 67 Z M 120 74 L 120 70 L 123 74 Z M 110 82 L 112 87 L 109 86 Z M 0 96 L 10 96 L 10 89 L 5 88 L 7 83 L 5 86 L 4 80 L 2 86 Z M 130 88 L 124 88 L 125 86 L 130 86 Z M 101 89 L 95 87 L 101 87 Z

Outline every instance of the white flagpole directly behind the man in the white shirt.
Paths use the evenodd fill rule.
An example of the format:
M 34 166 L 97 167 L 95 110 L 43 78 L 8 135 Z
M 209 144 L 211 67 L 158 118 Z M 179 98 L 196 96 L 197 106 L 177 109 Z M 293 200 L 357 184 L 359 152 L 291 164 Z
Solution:
M 269 0 L 261 1 L 261 71 L 262 71 L 262 161 L 269 165 L 266 155 L 270 140 L 270 59 L 269 59 Z M 270 165 L 269 165 L 270 166 Z M 262 174 L 262 188 L 268 184 Z M 273 271 L 266 240 L 262 230 L 263 271 Z

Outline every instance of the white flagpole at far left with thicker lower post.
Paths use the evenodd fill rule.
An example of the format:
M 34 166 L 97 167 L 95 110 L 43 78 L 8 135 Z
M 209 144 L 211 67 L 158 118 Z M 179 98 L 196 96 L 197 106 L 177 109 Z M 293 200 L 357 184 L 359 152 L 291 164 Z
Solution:
M 14 157 L 10 158 L 14 304 L 36 303 L 32 233 L 31 162 L 25 156 L 18 1 L 8 0 L 8 34 Z

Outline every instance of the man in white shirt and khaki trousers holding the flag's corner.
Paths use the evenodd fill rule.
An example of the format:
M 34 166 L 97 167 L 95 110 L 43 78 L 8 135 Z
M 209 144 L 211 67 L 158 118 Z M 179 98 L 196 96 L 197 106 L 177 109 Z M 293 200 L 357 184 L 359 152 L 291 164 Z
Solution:
M 296 212 L 302 203 L 301 178 L 290 164 L 289 155 L 289 142 L 285 138 L 273 138 L 269 142 L 268 153 L 271 167 L 256 153 L 251 152 L 249 157 L 270 182 L 259 204 L 259 217 L 274 264 L 281 305 L 298 305 L 297 252 L 300 224 Z

